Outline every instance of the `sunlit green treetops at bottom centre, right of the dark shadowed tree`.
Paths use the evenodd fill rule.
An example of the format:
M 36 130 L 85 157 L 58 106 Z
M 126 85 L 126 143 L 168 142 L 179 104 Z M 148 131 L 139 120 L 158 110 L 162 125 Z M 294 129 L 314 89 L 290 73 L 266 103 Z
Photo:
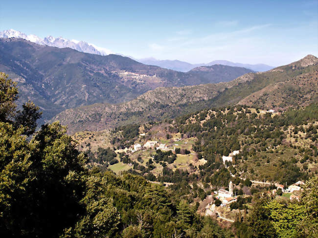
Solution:
M 145 237 L 147 234 L 146 237 L 161 238 L 175 233 L 193 237 L 191 234 L 204 234 L 204 231 L 232 237 L 214 221 L 200 218 L 185 200 L 176 201 L 171 191 L 161 185 L 150 184 L 129 173 L 122 176 L 110 172 L 94 174 L 94 180 L 97 178 L 97 181 L 107 181 L 108 186 L 106 183 L 96 186 L 99 190 L 91 191 L 91 195 L 109 197 L 120 212 L 120 223 L 108 233 L 112 237 Z

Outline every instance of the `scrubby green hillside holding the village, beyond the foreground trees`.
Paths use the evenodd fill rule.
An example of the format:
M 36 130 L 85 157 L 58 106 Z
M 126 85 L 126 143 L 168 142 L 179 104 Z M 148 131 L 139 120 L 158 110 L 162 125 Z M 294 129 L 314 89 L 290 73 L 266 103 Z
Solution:
M 107 150 L 99 147 L 105 139 L 103 145 L 94 144 L 99 135 L 92 132 L 80 149 L 88 154 L 90 166 L 170 185 L 174 196 L 196 206 L 201 215 L 211 209 L 219 222 L 220 214 L 232 219 L 231 229 L 240 238 L 315 237 L 317 130 L 317 103 L 283 113 L 235 106 L 115 128 L 108 135 Z M 133 150 L 134 144 L 148 140 L 166 147 Z M 224 161 L 224 156 L 232 160 Z M 303 192 L 288 192 L 297 181 L 306 180 L 310 182 Z M 222 207 L 214 191 L 227 189 L 230 181 L 236 199 Z

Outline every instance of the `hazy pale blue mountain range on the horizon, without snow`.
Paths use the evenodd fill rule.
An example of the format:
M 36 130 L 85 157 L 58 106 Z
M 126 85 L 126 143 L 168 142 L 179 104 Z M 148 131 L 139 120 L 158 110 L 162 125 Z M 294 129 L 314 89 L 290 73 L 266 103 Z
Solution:
M 173 70 L 181 71 L 181 72 L 187 72 L 199 66 L 210 66 L 210 65 L 228 65 L 228 66 L 244 67 L 244 68 L 249 68 L 256 72 L 268 71 L 274 68 L 273 66 L 270 66 L 270 65 L 241 64 L 241 63 L 233 63 L 226 60 L 216 60 L 207 64 L 190 64 L 190 63 L 179 61 L 179 60 L 157 60 L 155 58 L 136 59 L 136 61 L 145 65 L 157 65 L 162 68 L 169 68 L 169 69 L 173 69 Z

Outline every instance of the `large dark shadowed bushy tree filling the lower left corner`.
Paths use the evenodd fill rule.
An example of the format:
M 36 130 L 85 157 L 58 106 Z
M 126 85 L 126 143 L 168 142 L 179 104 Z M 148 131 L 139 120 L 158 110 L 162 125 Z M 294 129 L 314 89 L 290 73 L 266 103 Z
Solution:
M 1 236 L 57 237 L 84 214 L 86 158 L 59 123 L 43 126 L 30 143 L 23 130 L 1 124 Z

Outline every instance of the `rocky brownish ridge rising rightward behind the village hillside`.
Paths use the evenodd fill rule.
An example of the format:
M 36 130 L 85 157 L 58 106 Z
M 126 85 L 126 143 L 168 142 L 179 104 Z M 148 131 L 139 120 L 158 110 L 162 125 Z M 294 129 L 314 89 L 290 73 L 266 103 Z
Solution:
M 307 58 L 303 61 L 307 61 Z M 302 64 L 303 61 L 296 62 L 296 65 Z M 304 90 L 308 95 L 306 98 L 311 98 L 310 102 L 318 101 L 318 97 L 315 96 L 318 91 L 318 63 L 298 68 L 284 65 L 276 69 L 263 73 L 244 74 L 227 83 L 178 88 L 159 87 L 120 105 L 98 104 L 68 109 L 59 113 L 52 121 L 61 121 L 62 124 L 68 126 L 69 133 L 72 133 L 79 130 L 104 130 L 118 125 L 169 119 L 206 107 L 241 104 L 242 100 L 265 87 L 271 87 L 280 82 L 299 81 L 301 77 L 306 77 L 307 81 L 313 81 L 315 84 L 312 84 L 311 87 L 299 84 L 302 90 L 295 92 L 297 97 L 293 102 L 288 101 L 287 97 L 283 101 L 284 105 L 270 103 L 263 105 L 263 108 L 287 109 L 294 107 L 298 102 L 299 106 L 306 106 L 308 100 L 302 100 L 301 95 L 298 95 Z M 286 92 L 284 93 L 286 94 Z M 252 104 L 251 102 L 250 105 Z

